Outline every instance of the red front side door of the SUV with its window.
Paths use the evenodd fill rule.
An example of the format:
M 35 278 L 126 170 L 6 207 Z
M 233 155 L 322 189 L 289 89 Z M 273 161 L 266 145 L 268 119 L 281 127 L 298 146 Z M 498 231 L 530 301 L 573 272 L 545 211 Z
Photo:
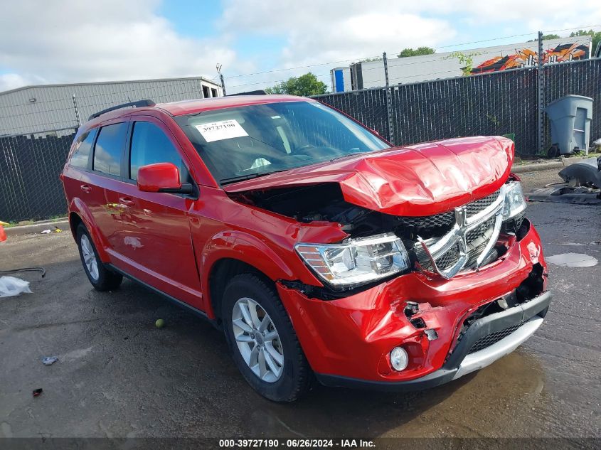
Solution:
M 142 192 L 136 185 L 139 167 L 163 162 L 179 168 L 182 182 L 192 182 L 184 152 L 166 125 L 154 117 L 132 119 L 124 186 L 119 193 L 107 193 L 107 200 L 121 211 L 115 250 L 128 273 L 200 308 L 201 285 L 188 223 L 193 198 Z

